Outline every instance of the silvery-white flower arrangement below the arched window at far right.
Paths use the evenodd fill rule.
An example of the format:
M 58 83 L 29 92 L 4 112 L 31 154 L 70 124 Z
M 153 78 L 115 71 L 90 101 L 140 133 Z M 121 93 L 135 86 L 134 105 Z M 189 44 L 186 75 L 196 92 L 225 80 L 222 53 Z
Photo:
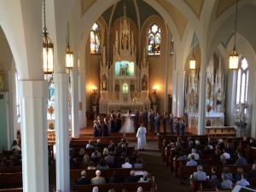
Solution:
M 248 108 L 247 102 L 236 103 L 234 116 L 236 118 L 235 125 L 241 129 L 247 128 L 247 116 L 245 109 Z

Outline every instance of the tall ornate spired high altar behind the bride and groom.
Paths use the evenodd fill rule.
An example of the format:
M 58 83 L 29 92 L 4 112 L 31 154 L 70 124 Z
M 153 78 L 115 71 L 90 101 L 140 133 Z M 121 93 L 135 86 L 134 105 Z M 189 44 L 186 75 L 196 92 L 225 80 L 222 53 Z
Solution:
M 133 112 L 135 108 L 142 112 L 143 108 L 151 106 L 148 97 L 148 62 L 145 49 L 143 61 L 137 62 L 137 46 L 126 13 L 113 38 L 113 62 L 106 61 L 105 47 L 102 53 L 99 113 L 110 113 L 112 110 L 126 113 L 128 110 Z

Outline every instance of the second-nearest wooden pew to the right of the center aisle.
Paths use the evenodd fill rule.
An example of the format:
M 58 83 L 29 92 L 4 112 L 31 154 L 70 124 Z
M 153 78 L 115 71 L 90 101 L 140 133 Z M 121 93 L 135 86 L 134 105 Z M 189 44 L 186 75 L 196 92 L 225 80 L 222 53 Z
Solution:
M 214 166 L 214 165 L 212 165 Z M 207 175 L 212 174 L 212 166 L 203 166 L 203 172 L 206 172 Z M 241 167 L 243 172 L 250 172 L 252 170 L 253 165 L 252 164 L 247 164 L 247 165 L 225 165 L 230 169 L 230 172 L 237 172 L 237 168 Z M 223 171 L 223 165 L 218 165 L 218 173 Z M 180 164 L 179 166 L 179 171 L 178 171 L 178 182 L 183 183 L 182 179 L 184 176 L 189 176 L 192 175 L 194 172 L 197 172 L 197 166 L 183 166 Z

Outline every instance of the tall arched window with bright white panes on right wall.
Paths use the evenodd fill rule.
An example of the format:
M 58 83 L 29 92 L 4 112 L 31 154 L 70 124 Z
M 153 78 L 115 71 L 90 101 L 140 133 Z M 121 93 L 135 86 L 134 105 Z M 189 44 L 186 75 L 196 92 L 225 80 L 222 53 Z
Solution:
M 237 73 L 236 103 L 247 102 L 248 73 L 247 60 L 244 58 Z

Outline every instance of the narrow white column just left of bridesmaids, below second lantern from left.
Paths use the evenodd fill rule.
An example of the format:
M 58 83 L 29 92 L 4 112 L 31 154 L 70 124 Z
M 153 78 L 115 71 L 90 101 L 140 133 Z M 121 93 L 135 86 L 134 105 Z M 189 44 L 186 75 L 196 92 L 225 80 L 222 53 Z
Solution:
M 79 130 L 79 71 L 72 70 L 71 89 L 72 89 L 72 137 L 80 137 Z

